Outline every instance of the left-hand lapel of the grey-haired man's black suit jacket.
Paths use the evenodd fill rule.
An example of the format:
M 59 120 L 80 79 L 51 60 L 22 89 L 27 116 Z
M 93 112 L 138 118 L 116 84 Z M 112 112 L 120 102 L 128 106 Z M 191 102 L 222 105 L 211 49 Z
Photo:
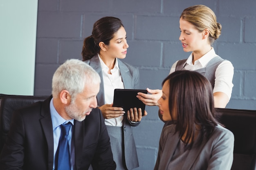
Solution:
M 41 116 L 43 118 L 40 119 L 40 124 L 42 126 L 45 139 L 48 146 L 48 167 L 51 169 L 53 167 L 53 129 L 52 129 L 52 117 L 50 113 L 50 101 L 52 96 L 46 99 L 43 102 Z

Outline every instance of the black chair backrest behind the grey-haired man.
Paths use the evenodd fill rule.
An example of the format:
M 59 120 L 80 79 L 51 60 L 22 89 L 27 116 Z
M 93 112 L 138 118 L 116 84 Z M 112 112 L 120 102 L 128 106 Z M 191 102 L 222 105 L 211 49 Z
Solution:
M 10 128 L 13 111 L 43 101 L 49 96 L 25 96 L 0 94 L 0 152 Z

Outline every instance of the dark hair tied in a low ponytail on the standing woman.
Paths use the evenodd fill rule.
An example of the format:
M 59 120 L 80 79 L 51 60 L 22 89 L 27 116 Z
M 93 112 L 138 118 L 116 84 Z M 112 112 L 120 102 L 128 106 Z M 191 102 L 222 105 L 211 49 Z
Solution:
M 109 41 L 114 38 L 115 33 L 124 27 L 121 20 L 115 17 L 103 17 L 97 20 L 92 29 L 92 35 L 83 41 L 82 56 L 83 61 L 91 59 L 99 53 L 99 43 L 109 45 Z

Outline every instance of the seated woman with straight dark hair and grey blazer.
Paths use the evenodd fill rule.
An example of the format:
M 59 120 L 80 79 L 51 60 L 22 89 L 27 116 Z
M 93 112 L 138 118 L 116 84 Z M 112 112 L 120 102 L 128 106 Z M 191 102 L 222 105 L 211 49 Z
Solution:
M 214 119 L 212 87 L 195 71 L 175 71 L 158 100 L 164 121 L 154 170 L 230 170 L 234 135 Z

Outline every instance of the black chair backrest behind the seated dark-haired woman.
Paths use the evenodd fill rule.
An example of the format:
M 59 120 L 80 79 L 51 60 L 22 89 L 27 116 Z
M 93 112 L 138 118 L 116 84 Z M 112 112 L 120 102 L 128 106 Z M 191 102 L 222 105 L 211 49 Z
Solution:
M 256 170 L 256 110 L 217 108 L 216 117 L 235 137 L 231 170 Z

